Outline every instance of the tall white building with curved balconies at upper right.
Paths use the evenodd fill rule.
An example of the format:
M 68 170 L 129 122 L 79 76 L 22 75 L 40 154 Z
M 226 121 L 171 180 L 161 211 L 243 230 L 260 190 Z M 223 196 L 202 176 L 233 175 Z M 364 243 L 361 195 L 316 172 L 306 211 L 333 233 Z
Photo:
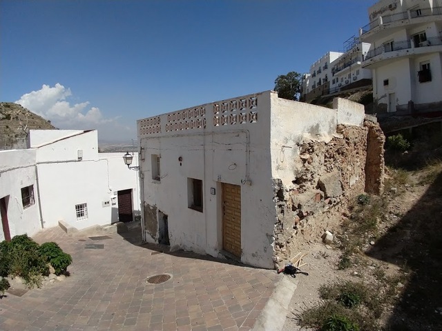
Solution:
M 371 48 L 362 66 L 372 70 L 375 111 L 440 110 L 442 1 L 381 0 L 368 14 L 360 35 Z

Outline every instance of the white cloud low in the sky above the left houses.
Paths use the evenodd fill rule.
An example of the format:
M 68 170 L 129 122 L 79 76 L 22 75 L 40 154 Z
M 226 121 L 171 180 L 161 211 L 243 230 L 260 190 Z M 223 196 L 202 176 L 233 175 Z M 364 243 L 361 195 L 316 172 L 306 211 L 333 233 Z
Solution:
M 40 90 L 23 94 L 15 103 L 50 120 L 53 126 L 60 129 L 97 129 L 100 139 L 104 140 L 115 140 L 115 132 L 120 133 L 119 139 L 122 141 L 133 138 L 135 123 L 134 128 L 122 126 L 119 117 L 104 117 L 99 108 L 90 106 L 89 101 L 71 105 L 68 98 L 72 95 L 70 88 L 56 83 L 52 88 L 43 85 Z

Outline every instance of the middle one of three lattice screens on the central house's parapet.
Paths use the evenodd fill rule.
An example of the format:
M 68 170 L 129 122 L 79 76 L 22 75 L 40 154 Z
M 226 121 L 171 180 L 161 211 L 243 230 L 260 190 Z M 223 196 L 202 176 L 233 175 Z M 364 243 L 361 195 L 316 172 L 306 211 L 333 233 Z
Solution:
M 206 108 L 189 108 L 167 114 L 166 132 L 206 128 Z

